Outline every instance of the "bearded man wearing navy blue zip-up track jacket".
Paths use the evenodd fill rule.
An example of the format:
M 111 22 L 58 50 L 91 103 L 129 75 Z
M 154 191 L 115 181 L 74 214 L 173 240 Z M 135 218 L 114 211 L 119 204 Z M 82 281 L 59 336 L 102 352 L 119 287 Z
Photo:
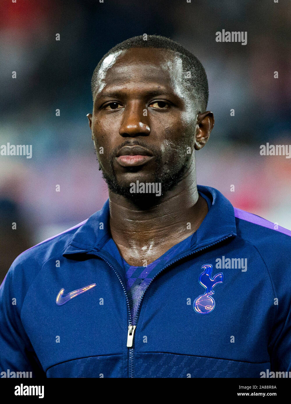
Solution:
M 91 84 L 109 199 L 14 261 L 0 292 L 1 371 L 289 371 L 291 232 L 196 185 L 195 151 L 214 125 L 201 63 L 140 36 L 111 49 Z

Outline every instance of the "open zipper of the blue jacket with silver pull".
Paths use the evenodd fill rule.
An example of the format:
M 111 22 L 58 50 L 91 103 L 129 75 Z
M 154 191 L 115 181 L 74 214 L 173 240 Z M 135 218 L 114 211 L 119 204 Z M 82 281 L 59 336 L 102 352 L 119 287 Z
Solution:
M 114 271 L 115 274 L 117 275 L 117 277 L 118 277 L 118 279 L 119 279 L 119 281 L 120 281 L 120 283 L 121 283 L 121 285 L 122 285 L 123 292 L 124 292 L 124 294 L 125 294 L 126 305 L 127 305 L 127 314 L 128 314 L 128 331 L 127 331 L 127 343 L 126 343 L 126 346 L 128 347 L 128 351 L 129 351 L 129 352 L 128 352 L 128 362 L 129 362 L 129 363 L 128 363 L 128 370 L 129 370 L 129 371 L 128 371 L 128 374 L 129 374 L 129 377 L 134 377 L 134 333 L 135 333 L 135 330 L 136 330 L 136 323 L 138 322 L 140 307 L 141 307 L 141 303 L 142 303 L 144 294 L 145 294 L 145 292 L 147 291 L 147 289 L 149 288 L 150 284 L 153 282 L 153 280 L 154 280 L 162 271 L 164 271 L 164 269 L 170 267 L 170 265 L 175 264 L 176 262 L 180 261 L 181 259 L 184 259 L 184 258 L 186 258 L 186 257 L 189 257 L 189 255 L 196 254 L 196 252 L 205 250 L 206 248 L 212 247 L 212 246 L 214 246 L 215 244 L 221 243 L 222 241 L 224 241 L 224 240 L 226 240 L 227 238 L 230 238 L 230 237 L 232 237 L 232 236 L 235 236 L 235 234 L 230 233 L 230 234 L 228 234 L 227 236 L 225 236 L 225 237 L 221 238 L 220 240 L 216 241 L 215 243 L 208 244 L 207 246 L 202 247 L 202 248 L 199 248 L 198 250 L 194 250 L 194 251 L 192 251 L 192 252 L 189 252 L 189 254 L 183 255 L 183 257 L 180 257 L 180 258 L 176 259 L 175 261 L 172 261 L 172 262 L 168 263 L 168 265 L 166 265 L 166 266 L 165 266 L 164 268 L 162 268 L 159 272 L 157 272 L 157 274 L 155 274 L 155 276 L 151 279 L 151 281 L 149 282 L 149 284 L 147 285 L 147 287 L 144 289 L 144 292 L 143 292 L 143 294 L 142 294 L 142 296 L 141 296 L 141 298 L 140 298 L 140 301 L 139 301 L 139 303 L 138 303 L 138 308 L 137 308 L 137 310 L 136 310 L 136 316 L 135 316 L 135 319 L 134 319 L 134 320 L 135 320 L 135 324 L 132 324 L 132 315 L 131 315 L 131 312 L 130 312 L 130 304 L 129 304 L 127 292 L 126 292 L 125 286 L 124 286 L 124 284 L 123 284 L 123 282 L 122 282 L 122 280 L 121 280 L 121 278 L 120 278 L 120 276 L 119 276 L 119 273 L 114 269 L 113 265 L 111 265 L 111 264 L 108 262 L 108 260 L 103 257 L 102 254 L 98 254 L 98 253 L 96 253 L 96 252 L 89 252 L 90 255 L 93 254 L 93 255 L 96 255 L 97 257 L 102 258 L 102 259 L 113 269 L 113 271 Z

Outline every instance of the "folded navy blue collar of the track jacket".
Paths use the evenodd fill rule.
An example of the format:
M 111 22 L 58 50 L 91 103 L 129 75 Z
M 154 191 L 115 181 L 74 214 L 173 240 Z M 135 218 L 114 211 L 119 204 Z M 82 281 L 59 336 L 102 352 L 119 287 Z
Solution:
M 198 185 L 197 188 L 199 192 L 208 196 L 212 205 L 199 229 L 193 233 L 191 249 L 214 244 L 227 236 L 236 236 L 234 207 L 229 200 L 215 188 L 202 185 Z M 63 255 L 99 251 L 110 237 L 109 199 L 107 199 L 102 209 L 91 215 L 74 233 Z

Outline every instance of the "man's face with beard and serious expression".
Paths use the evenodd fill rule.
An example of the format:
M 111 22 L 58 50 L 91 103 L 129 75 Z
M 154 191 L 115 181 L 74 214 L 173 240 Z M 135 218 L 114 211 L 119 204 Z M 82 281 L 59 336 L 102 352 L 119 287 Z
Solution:
M 164 193 L 193 162 L 198 111 L 184 74 L 180 57 L 163 49 L 130 48 L 102 63 L 89 121 L 113 192 L 142 197 L 130 194 L 138 180 L 161 183 Z

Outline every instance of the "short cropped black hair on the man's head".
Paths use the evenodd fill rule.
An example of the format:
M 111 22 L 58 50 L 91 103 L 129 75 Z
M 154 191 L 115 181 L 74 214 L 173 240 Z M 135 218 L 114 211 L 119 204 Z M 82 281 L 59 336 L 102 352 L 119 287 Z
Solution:
M 96 88 L 96 80 L 98 77 L 98 72 L 102 65 L 102 62 L 106 57 L 112 55 L 119 50 L 126 50 L 130 48 L 162 48 L 167 50 L 172 50 L 179 54 L 182 60 L 182 66 L 185 72 L 185 84 L 187 88 L 193 93 L 197 98 L 198 107 L 201 109 L 200 112 L 206 111 L 208 103 L 208 80 L 206 72 L 201 62 L 195 57 L 189 50 L 184 48 L 182 45 L 174 42 L 173 40 L 166 38 L 165 36 L 159 35 L 139 35 L 129 38 L 113 48 L 111 48 L 106 55 L 102 57 L 96 69 L 93 72 L 91 80 L 91 91 L 94 100 L 94 92 Z M 187 78 L 186 78 L 187 72 Z M 190 72 L 190 74 L 189 74 Z M 190 77 L 188 77 L 190 76 Z

